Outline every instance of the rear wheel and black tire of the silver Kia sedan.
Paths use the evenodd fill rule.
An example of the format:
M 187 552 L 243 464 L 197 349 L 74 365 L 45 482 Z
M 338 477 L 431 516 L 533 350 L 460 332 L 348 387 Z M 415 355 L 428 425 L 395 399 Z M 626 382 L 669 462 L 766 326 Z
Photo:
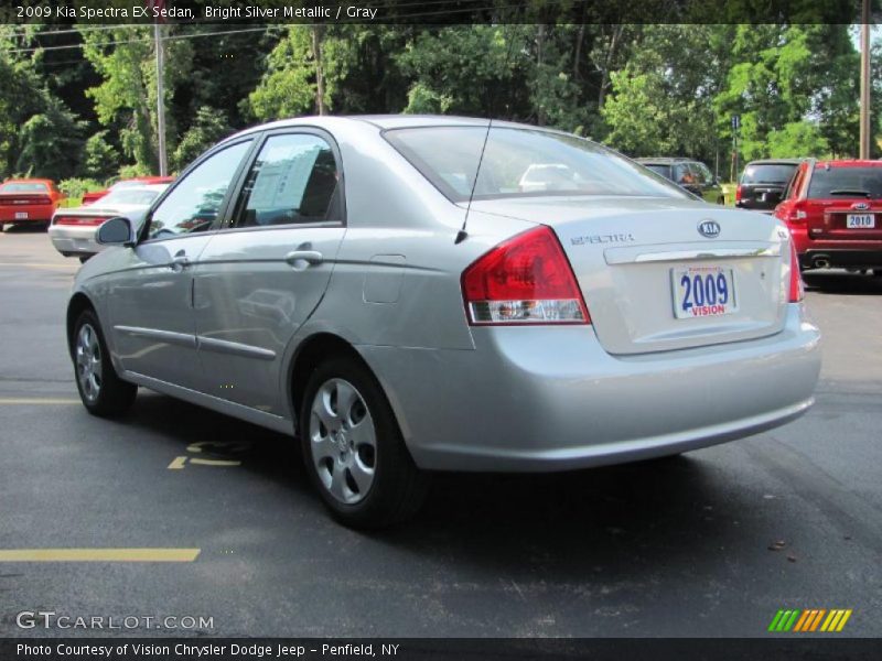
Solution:
M 338 400 L 351 399 L 347 388 L 354 390 L 354 399 L 348 410 L 343 410 Z M 338 416 L 341 426 L 332 429 L 336 425 L 333 418 L 326 419 L 325 426 L 313 413 L 320 391 L 329 398 L 329 411 Z M 369 429 L 374 431 L 373 447 L 365 442 Z M 299 431 L 310 479 L 333 517 L 344 525 L 385 528 L 405 521 L 422 505 L 429 477 L 413 464 L 383 389 L 361 361 L 335 357 L 312 372 L 303 392 Z M 321 453 L 325 456 L 319 456 Z M 373 472 L 362 492 L 354 476 L 368 479 L 366 468 Z M 334 490 L 345 492 L 335 495 Z

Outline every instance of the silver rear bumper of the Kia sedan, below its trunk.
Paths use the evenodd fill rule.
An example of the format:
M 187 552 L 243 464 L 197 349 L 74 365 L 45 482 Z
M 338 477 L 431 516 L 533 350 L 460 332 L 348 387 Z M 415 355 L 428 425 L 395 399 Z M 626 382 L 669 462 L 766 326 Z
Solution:
M 820 370 L 798 305 L 770 337 L 633 357 L 606 354 L 590 326 L 473 330 L 475 350 L 357 347 L 420 467 L 552 472 L 696 449 L 797 418 Z

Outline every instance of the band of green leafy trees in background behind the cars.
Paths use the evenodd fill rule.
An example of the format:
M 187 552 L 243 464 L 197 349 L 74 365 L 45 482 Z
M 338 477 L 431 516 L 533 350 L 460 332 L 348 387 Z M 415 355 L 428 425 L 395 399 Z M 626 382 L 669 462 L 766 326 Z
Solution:
M 806 24 L 777 25 L 616 25 L 590 3 L 561 2 L 581 22 L 558 23 L 531 1 L 521 12 L 531 23 L 164 25 L 171 165 L 246 124 L 319 111 L 492 116 L 708 164 L 728 163 L 740 115 L 742 161 L 857 155 L 858 53 L 847 25 L 809 20 L 809 0 Z M 157 172 L 152 26 L 106 28 L 53 36 L 50 25 L 0 25 L 0 176 Z M 78 51 L 50 50 L 71 39 L 79 63 Z M 882 44 L 871 62 L 882 132 Z

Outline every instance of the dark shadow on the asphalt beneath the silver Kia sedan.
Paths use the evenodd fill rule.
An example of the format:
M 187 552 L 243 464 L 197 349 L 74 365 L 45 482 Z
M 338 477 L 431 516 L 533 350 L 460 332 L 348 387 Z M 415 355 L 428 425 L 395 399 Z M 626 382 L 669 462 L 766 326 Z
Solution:
M 211 440 L 219 449 L 201 456 L 241 459 L 251 475 L 290 492 L 298 510 L 326 516 L 288 436 L 153 394 L 139 395 L 127 424 L 160 434 L 181 454 Z M 244 452 L 225 456 L 224 444 L 243 441 Z M 744 543 L 753 506 L 706 456 L 542 475 L 434 474 L 411 521 L 359 534 L 421 561 L 455 559 L 516 581 L 633 577 L 682 554 L 724 562 Z

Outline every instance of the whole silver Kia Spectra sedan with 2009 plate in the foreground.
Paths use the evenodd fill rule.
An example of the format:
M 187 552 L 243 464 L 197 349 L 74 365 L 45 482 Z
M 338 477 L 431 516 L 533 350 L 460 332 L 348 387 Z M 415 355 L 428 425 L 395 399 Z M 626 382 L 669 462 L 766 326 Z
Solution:
M 559 176 L 524 189 L 537 165 Z M 753 434 L 805 412 L 818 377 L 781 221 L 528 126 L 261 126 L 98 240 L 116 247 L 67 312 L 86 408 L 118 414 L 142 386 L 294 434 L 349 525 L 413 512 L 429 470 Z

